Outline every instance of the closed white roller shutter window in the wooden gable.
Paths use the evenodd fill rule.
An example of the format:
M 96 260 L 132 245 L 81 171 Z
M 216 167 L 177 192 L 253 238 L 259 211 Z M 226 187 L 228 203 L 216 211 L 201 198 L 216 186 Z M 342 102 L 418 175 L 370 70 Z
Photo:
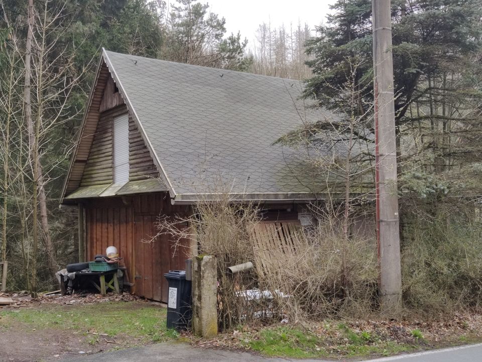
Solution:
M 127 114 L 114 118 L 114 184 L 129 181 L 129 117 Z

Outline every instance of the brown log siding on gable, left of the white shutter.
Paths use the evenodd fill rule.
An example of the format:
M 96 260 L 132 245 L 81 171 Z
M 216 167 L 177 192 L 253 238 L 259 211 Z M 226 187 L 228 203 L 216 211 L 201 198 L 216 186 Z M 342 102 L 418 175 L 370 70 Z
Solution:
M 123 105 L 100 115 L 80 182 L 81 187 L 112 183 L 112 120 L 125 113 L 127 107 Z

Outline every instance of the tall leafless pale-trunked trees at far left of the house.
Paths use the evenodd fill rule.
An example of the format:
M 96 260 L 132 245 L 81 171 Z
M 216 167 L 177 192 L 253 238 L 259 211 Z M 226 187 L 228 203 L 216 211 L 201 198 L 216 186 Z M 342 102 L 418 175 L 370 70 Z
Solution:
M 1 4 L 3 7 L 3 2 Z M 37 290 L 39 240 L 43 242 L 52 278 L 58 270 L 56 250 L 49 228 L 46 186 L 51 181 L 51 171 L 58 167 L 63 158 L 49 157 L 48 153 L 53 143 L 62 141 L 58 136 L 59 126 L 73 120 L 79 113 L 79 110 L 71 109 L 68 100 L 83 71 L 75 72 L 75 49 L 72 51 L 71 46 L 69 48 L 63 43 L 63 37 L 69 27 L 64 15 L 64 5 L 58 5 L 52 0 L 42 0 L 34 5 L 33 0 L 29 0 L 26 8 L 27 17 L 18 17 L 16 20 L 21 23 L 23 19 L 27 19 L 26 24 L 11 24 L 7 19 L 8 13 L 4 11 L 5 22 L 11 24 L 13 34 L 9 44 L 12 78 L 8 87 L 12 94 L 2 98 L 3 113 L 9 120 L 4 126 L 3 147 L 9 151 L 15 148 L 8 154 L 15 155 L 16 160 L 4 160 L 4 170 L 7 172 L 3 175 L 3 186 L 9 186 L 12 177 L 15 177 L 15 186 L 12 186 L 12 190 L 15 189 L 19 193 L 11 198 L 15 201 L 14 204 L 19 206 L 18 212 L 22 214 L 17 217 L 21 223 L 27 222 L 22 224 L 20 249 L 25 267 L 30 269 L 30 288 L 34 293 Z M 21 26 L 27 28 L 25 42 L 17 36 L 15 30 Z M 16 74 L 22 74 L 23 79 L 18 75 L 15 78 Z M 11 137 L 10 126 L 13 123 L 19 132 L 15 140 L 19 142 L 14 142 Z M 28 144 L 24 144 L 24 138 L 28 140 Z M 66 154 L 67 152 L 64 153 L 64 157 Z M 32 185 L 31 191 L 25 188 L 28 180 Z M 4 207 L 4 240 L 7 238 L 8 216 Z M 32 220 L 31 227 L 28 227 L 29 221 L 26 220 Z M 30 238 L 31 246 L 25 242 Z

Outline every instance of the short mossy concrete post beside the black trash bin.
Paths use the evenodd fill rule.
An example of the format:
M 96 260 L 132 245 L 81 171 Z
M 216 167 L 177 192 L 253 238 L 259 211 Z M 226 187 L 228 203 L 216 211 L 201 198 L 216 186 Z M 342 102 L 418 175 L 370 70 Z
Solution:
M 201 337 L 217 334 L 217 270 L 211 255 L 192 259 L 192 329 Z

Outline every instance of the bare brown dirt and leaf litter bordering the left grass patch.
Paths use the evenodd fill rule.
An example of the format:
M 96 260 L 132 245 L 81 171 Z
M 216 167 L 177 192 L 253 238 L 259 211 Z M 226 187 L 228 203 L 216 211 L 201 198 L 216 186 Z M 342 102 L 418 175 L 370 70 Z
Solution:
M 105 297 L 96 294 L 52 295 L 38 299 L 32 299 L 26 293 L 2 294 L 1 296 L 11 297 L 14 304 L 0 306 L 0 362 L 54 361 L 67 355 L 91 354 L 102 350 L 145 344 L 145 341 L 141 338 L 136 340 L 135 337 L 126 334 L 111 337 L 106 333 L 96 332 L 95 329 L 86 331 L 61 327 L 33 328 L 28 323 L 6 317 L 3 312 L 30 309 L 50 311 L 59 310 L 56 307 L 60 306 L 63 313 L 69 313 L 69 311 L 78 308 L 79 305 L 117 301 L 132 301 L 133 304 L 129 306 L 130 308 L 160 304 L 144 301 L 130 294 L 111 294 Z M 8 322 L 6 319 L 8 319 Z

